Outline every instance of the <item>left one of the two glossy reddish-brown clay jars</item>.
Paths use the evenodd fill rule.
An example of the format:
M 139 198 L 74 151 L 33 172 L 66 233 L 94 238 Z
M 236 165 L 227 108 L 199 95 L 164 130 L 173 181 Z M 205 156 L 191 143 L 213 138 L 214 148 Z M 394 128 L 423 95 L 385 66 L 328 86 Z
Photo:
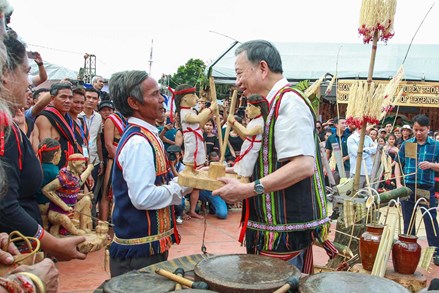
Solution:
M 383 230 L 382 225 L 369 224 L 360 237 L 361 264 L 365 270 L 371 271 L 373 268 Z

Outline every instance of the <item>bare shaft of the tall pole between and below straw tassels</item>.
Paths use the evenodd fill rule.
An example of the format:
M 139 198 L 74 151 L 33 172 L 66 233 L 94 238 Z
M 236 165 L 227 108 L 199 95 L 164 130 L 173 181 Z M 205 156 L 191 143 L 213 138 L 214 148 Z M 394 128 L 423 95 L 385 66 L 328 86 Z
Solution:
M 369 63 L 369 72 L 367 74 L 367 83 L 372 83 L 373 78 L 373 68 L 375 67 L 375 57 L 378 44 L 378 30 L 375 30 L 373 34 L 373 43 L 372 43 L 372 53 L 370 54 L 370 63 Z M 367 124 L 363 123 L 361 126 L 360 133 L 360 141 L 358 143 L 358 151 L 357 151 L 357 163 L 355 165 L 355 177 L 354 177 L 354 189 L 353 192 L 357 192 L 360 188 L 360 175 L 361 175 L 361 161 L 363 160 L 363 148 L 364 148 L 364 137 L 366 136 L 366 127 Z

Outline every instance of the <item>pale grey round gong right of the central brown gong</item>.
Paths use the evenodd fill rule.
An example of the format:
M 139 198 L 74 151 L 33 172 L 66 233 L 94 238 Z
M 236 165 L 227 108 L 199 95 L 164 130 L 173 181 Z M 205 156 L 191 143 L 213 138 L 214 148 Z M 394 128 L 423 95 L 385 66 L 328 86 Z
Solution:
M 400 284 L 376 276 L 349 272 L 320 273 L 303 278 L 301 293 L 405 293 L 410 292 Z

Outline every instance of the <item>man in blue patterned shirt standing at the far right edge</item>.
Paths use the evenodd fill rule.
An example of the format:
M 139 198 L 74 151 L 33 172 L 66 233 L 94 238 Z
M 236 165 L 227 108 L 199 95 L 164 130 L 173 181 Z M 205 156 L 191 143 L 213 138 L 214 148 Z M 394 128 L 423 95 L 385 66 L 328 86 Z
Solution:
M 434 235 L 434 230 L 439 231 L 437 222 L 437 198 L 434 196 L 434 172 L 439 171 L 439 142 L 428 137 L 430 131 L 430 119 L 427 116 L 419 114 L 413 118 L 414 137 L 406 140 L 399 151 L 399 160 L 395 166 L 396 186 L 402 187 L 401 170 L 399 163 L 402 165 L 403 174 L 413 174 L 404 177 L 405 184 L 413 191 L 408 200 L 401 202 L 404 218 L 404 233 L 413 234 L 415 231 L 409 230 L 409 222 L 414 209 L 416 200 L 421 194 L 427 194 L 427 200 L 430 205 L 425 208 L 430 209 L 432 219 L 424 215 L 425 231 L 427 233 L 428 245 L 436 247 L 434 253 L 434 264 L 439 266 L 439 237 Z M 416 158 L 409 156 L 406 151 L 409 143 L 415 143 L 417 152 Z M 424 209 L 421 210 L 424 212 Z M 433 228 L 434 225 L 434 228 Z

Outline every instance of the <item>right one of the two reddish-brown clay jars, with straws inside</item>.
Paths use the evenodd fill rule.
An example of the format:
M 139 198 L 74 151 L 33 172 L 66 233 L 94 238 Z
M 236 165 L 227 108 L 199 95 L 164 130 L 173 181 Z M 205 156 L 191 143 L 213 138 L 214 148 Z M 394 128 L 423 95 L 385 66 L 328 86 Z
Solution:
M 411 275 L 414 274 L 421 258 L 421 246 L 418 237 L 400 234 L 393 244 L 392 262 L 395 272 Z

